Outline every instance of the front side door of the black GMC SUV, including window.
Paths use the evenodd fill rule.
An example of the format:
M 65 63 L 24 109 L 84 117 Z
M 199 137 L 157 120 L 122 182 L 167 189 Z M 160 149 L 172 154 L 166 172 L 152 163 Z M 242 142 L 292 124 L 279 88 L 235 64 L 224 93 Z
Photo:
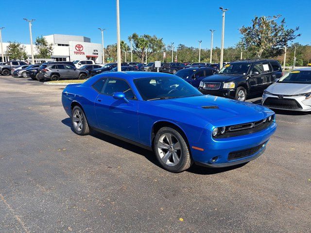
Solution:
M 251 67 L 251 71 L 248 77 L 249 84 L 249 94 L 257 93 L 261 91 L 262 83 L 263 83 L 263 74 L 262 74 L 262 65 L 261 63 L 253 64 Z

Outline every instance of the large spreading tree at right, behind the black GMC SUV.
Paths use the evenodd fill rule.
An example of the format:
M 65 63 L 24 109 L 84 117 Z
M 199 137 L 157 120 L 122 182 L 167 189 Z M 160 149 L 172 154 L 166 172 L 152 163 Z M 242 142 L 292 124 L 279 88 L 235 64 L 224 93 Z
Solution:
M 284 52 L 283 47 L 293 41 L 300 34 L 295 34 L 295 29 L 285 29 L 285 18 L 278 24 L 276 19 L 281 17 L 255 17 L 252 25 L 239 29 L 242 34 L 243 47 L 252 52 L 256 57 L 275 57 Z

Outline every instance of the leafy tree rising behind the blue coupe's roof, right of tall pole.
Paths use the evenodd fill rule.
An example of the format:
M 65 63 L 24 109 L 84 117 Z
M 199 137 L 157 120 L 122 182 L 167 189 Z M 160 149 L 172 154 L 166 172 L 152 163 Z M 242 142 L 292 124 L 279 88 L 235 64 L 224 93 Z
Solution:
M 147 59 L 155 52 L 164 48 L 163 39 L 157 38 L 155 35 L 138 35 L 133 33 L 128 37 L 129 41 L 133 41 L 133 53 L 138 56 L 141 63 L 145 60 L 145 52 L 147 50 Z

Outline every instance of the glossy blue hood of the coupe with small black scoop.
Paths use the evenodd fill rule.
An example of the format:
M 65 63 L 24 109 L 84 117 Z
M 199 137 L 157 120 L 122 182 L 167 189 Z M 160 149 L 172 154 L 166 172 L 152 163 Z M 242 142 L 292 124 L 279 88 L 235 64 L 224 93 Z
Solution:
M 210 95 L 150 102 L 173 110 L 179 116 L 191 113 L 217 127 L 258 121 L 274 113 L 261 105 Z

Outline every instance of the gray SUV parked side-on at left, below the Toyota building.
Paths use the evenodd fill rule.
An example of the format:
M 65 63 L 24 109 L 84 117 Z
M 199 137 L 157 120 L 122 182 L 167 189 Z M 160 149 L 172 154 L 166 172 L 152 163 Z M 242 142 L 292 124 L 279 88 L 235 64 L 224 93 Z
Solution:
M 67 64 L 49 64 L 39 67 L 39 80 L 86 79 L 88 71 Z

